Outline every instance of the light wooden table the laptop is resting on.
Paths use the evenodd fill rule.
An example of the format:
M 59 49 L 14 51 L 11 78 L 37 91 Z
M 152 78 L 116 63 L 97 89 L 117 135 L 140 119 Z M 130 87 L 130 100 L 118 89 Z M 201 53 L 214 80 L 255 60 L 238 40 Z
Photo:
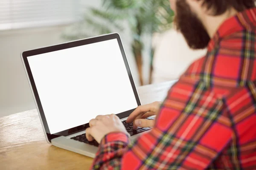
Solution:
M 174 83 L 139 87 L 142 104 L 163 101 Z M 89 169 L 92 161 L 48 144 L 36 109 L 0 118 L 0 170 Z

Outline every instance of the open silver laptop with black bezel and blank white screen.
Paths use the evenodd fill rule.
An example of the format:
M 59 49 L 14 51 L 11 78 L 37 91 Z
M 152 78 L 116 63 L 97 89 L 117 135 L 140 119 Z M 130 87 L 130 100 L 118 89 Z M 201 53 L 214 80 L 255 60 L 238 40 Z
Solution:
M 95 157 L 99 144 L 85 129 L 97 115 L 116 114 L 131 140 L 150 130 L 125 122 L 141 103 L 119 34 L 24 51 L 21 59 L 49 144 Z

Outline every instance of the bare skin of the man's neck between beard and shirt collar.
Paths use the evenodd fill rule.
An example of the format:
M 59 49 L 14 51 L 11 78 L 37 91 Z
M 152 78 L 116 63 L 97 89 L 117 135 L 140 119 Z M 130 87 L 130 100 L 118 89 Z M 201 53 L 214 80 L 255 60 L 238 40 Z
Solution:
M 236 14 L 237 11 L 235 9 L 230 9 L 229 11 L 219 16 L 202 15 L 204 16 L 202 18 L 202 23 L 204 24 L 204 27 L 206 28 L 209 36 L 212 38 L 218 31 L 218 28 L 221 26 L 221 24 L 224 23 L 225 20 L 233 17 Z

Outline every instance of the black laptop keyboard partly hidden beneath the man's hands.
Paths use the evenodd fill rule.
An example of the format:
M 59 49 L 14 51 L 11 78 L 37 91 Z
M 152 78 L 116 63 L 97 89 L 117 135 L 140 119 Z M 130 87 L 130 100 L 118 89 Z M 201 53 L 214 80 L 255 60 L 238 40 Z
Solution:
M 147 118 L 147 119 L 154 119 L 154 117 L 150 117 L 150 118 Z M 127 132 L 133 136 L 133 135 L 136 135 L 138 133 L 142 133 L 142 132 L 145 132 L 147 130 L 150 130 L 151 127 L 139 127 L 137 128 L 136 130 L 133 129 L 133 122 L 131 123 L 126 123 L 125 121 L 122 121 L 123 125 L 125 126 Z M 87 143 L 87 144 L 90 144 L 90 145 L 93 145 L 93 146 L 96 146 L 98 147 L 99 144 L 96 140 L 93 139 L 93 141 L 88 141 L 88 139 L 86 138 L 85 136 L 85 133 L 81 134 L 81 135 L 78 135 L 78 136 L 74 136 L 70 139 L 73 139 L 73 140 L 76 140 L 76 141 L 79 141 L 79 142 L 84 142 L 84 143 Z

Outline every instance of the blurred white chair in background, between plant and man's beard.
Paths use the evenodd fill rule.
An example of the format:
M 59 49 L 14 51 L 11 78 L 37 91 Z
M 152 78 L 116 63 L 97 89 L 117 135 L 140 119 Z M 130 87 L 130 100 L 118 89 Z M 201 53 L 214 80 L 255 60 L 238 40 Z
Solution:
M 188 66 L 203 57 L 207 50 L 192 50 L 183 35 L 172 29 L 163 34 L 154 35 L 152 83 L 178 79 Z

